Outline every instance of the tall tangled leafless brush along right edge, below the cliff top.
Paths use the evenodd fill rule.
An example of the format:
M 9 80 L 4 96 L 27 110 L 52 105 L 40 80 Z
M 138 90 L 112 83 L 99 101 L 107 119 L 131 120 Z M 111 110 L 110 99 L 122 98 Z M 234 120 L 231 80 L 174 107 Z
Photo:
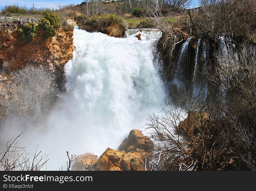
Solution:
M 217 70 L 210 78 L 225 95 L 225 124 L 239 170 L 256 170 L 256 48 L 241 45 L 216 55 Z

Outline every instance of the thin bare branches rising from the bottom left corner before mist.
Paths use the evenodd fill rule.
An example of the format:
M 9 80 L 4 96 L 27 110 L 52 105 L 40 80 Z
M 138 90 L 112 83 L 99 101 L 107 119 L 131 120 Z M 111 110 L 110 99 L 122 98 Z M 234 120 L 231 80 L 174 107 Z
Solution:
M 23 132 L 22 132 L 23 133 Z M 39 156 L 41 151 L 38 152 L 38 147 L 35 150 L 33 158 L 29 157 L 24 147 L 17 146 L 17 139 L 22 135 L 19 134 L 15 139 L 10 139 L 6 143 L 6 150 L 1 152 L 0 170 L 26 170 L 37 171 L 41 170 L 49 159 L 48 156 Z

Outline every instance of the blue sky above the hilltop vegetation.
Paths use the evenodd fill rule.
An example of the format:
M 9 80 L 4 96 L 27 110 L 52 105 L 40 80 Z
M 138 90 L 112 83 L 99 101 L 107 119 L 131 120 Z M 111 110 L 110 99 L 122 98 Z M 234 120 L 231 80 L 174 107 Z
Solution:
M 192 0 L 196 1 L 196 0 Z M 0 9 L 5 5 L 10 4 L 19 4 L 20 6 L 33 7 L 37 8 L 58 8 L 58 4 L 66 5 L 66 4 L 80 4 L 83 0 L 0 0 Z M 192 6 L 193 7 L 193 6 Z

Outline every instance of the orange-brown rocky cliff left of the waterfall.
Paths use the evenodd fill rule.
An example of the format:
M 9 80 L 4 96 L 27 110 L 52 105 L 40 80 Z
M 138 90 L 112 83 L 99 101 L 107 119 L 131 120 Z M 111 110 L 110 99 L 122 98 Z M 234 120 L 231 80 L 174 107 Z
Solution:
M 34 18 L 0 17 L 0 69 L 11 71 L 31 63 L 53 72 L 57 83 L 61 84 L 64 65 L 71 59 L 74 50 L 74 28 L 61 27 L 55 37 L 50 38 L 38 28 L 31 43 L 22 43 L 17 29 L 31 21 L 38 24 Z

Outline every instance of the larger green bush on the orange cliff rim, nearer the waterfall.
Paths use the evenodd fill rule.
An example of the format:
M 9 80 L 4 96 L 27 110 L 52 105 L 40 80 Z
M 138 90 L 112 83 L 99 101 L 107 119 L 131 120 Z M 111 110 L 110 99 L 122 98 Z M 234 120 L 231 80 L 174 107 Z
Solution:
M 39 26 L 45 29 L 47 37 L 54 37 L 61 27 L 61 21 L 58 14 L 46 13 L 39 22 Z

